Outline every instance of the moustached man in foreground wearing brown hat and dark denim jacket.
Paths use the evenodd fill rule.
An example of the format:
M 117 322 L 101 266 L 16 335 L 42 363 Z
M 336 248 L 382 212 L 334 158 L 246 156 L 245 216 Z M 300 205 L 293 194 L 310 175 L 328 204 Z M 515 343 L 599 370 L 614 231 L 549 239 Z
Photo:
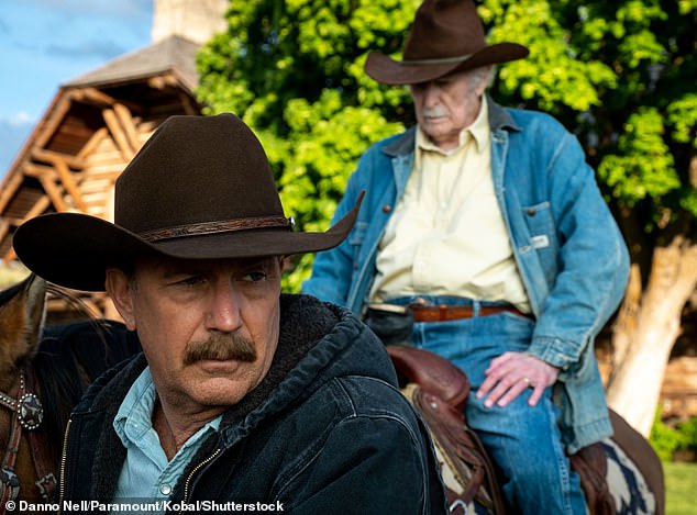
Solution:
M 339 244 L 356 211 L 294 232 L 259 142 L 221 114 L 161 125 L 117 181 L 113 224 L 22 225 L 24 264 L 106 287 L 143 348 L 74 411 L 60 506 L 442 513 L 429 437 L 381 344 L 346 310 L 280 293 L 283 256 Z

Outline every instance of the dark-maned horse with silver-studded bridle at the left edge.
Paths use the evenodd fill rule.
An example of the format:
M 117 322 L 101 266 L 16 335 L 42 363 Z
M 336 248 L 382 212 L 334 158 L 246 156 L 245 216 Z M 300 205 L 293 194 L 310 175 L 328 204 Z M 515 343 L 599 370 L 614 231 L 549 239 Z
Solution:
M 70 411 L 101 372 L 140 351 L 119 322 L 45 325 L 48 291 L 76 299 L 34 275 L 0 292 L 0 514 L 10 500 L 52 500 Z

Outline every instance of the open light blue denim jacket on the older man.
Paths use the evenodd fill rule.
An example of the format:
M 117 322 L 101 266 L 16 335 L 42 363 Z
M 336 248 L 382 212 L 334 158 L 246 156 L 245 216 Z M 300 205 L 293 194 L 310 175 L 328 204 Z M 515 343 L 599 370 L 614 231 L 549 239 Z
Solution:
M 496 197 L 535 316 L 528 351 L 560 367 L 569 451 L 611 434 L 594 338 L 624 293 L 629 256 L 577 139 L 543 113 L 489 100 Z M 414 127 L 370 147 L 348 179 L 334 221 L 366 191 L 339 247 L 316 257 L 303 292 L 365 309 L 378 244 L 413 164 Z

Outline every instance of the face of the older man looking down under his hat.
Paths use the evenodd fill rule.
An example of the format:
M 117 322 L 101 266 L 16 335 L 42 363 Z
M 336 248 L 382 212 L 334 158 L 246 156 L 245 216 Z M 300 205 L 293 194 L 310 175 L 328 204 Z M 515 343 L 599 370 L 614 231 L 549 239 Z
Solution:
M 458 145 L 462 130 L 479 114 L 488 71 L 460 71 L 411 86 L 417 122 L 434 145 L 444 150 Z

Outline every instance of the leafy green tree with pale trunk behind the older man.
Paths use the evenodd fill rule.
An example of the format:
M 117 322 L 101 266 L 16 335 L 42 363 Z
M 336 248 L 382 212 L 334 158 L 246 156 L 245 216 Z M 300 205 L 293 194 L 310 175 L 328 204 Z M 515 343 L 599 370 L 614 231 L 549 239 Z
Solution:
M 233 0 L 228 33 L 200 53 L 209 112 L 235 112 L 254 128 L 302 229 L 325 229 L 358 156 L 413 123 L 408 90 L 374 82 L 363 63 L 372 49 L 400 57 L 419 3 Z M 500 67 L 493 97 L 546 111 L 577 134 L 628 240 L 632 279 L 608 394 L 648 434 L 697 283 L 697 0 L 484 0 L 478 9 L 489 42 L 531 51 Z M 297 290 L 310 265 L 303 257 L 286 288 Z

